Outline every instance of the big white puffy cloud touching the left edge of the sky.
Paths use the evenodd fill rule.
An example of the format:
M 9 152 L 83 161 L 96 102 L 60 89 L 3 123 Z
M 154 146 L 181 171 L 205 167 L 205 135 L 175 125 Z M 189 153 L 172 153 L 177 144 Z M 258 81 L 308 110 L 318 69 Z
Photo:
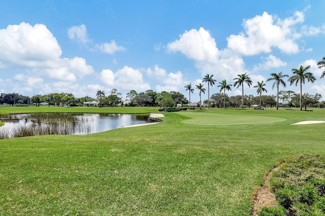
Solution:
M 43 24 L 22 22 L 0 29 L 0 62 L 27 67 L 48 66 L 62 54 L 53 34 Z

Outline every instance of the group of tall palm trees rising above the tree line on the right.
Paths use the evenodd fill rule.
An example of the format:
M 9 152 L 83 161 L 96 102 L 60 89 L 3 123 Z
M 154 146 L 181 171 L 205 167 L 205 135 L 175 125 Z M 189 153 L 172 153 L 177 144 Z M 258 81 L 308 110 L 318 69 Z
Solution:
M 318 68 L 321 67 L 325 67 L 325 57 L 322 58 L 321 61 L 319 61 L 317 63 Z M 284 88 L 286 87 L 286 83 L 283 80 L 285 77 L 289 77 L 288 78 L 288 82 L 290 82 L 290 85 L 296 84 L 296 86 L 298 85 L 298 83 L 300 84 L 300 110 L 302 110 L 302 84 L 305 84 L 305 81 L 307 80 L 307 82 L 311 82 L 313 83 L 316 78 L 313 76 L 312 73 L 308 72 L 308 69 L 310 69 L 310 65 L 304 67 L 303 65 L 300 65 L 299 68 L 293 68 L 293 76 L 289 77 L 289 75 L 283 75 L 282 71 L 278 74 L 276 73 L 272 73 L 271 78 L 269 78 L 266 82 L 269 81 L 274 81 L 272 89 L 274 89 L 274 87 L 276 86 L 277 88 L 277 100 L 276 100 L 276 110 L 278 110 L 279 108 L 279 86 L 282 85 Z M 325 70 L 322 72 L 320 78 L 324 78 L 325 77 Z M 244 107 L 244 84 L 246 83 L 248 85 L 248 87 L 250 87 L 252 85 L 252 81 L 250 80 L 249 76 L 247 75 L 247 73 L 245 74 L 239 74 L 238 77 L 234 78 L 235 83 L 234 83 L 234 87 L 242 87 L 242 105 L 241 107 Z M 209 75 L 207 74 L 204 78 L 203 78 L 203 82 L 207 82 L 208 83 L 208 108 L 210 108 L 210 86 L 213 87 L 213 85 L 215 84 L 216 80 L 213 79 L 213 75 Z M 257 88 L 257 93 L 259 94 L 259 107 L 261 107 L 262 105 L 262 92 L 267 92 L 265 86 L 266 86 L 266 82 L 262 81 L 262 82 L 257 82 L 257 85 L 253 86 L 254 88 Z M 224 94 L 224 104 L 223 107 L 225 108 L 225 91 L 230 91 L 232 90 L 231 87 L 233 85 L 228 84 L 226 82 L 226 80 L 222 80 L 220 83 L 220 85 L 218 85 L 217 87 L 220 87 L 220 92 L 223 90 L 223 94 Z M 189 91 L 189 103 L 191 100 L 190 94 L 193 93 L 194 89 L 192 89 L 191 84 L 188 84 L 186 86 L 184 86 L 186 88 L 186 91 Z M 206 89 L 203 88 L 203 83 L 200 83 L 199 85 L 196 85 L 196 88 L 199 90 L 200 92 L 200 109 L 201 109 L 201 94 L 205 93 Z

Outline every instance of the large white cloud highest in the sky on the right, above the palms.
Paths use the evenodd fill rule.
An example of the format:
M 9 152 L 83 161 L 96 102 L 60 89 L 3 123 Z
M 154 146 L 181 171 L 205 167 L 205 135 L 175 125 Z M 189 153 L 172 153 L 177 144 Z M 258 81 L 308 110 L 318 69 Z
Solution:
M 294 26 L 304 21 L 304 14 L 296 12 L 293 17 L 276 19 L 264 12 L 254 18 L 244 20 L 244 32 L 230 35 L 228 47 L 243 55 L 269 53 L 273 47 L 290 54 L 298 53 L 299 46 L 295 40 L 301 37 Z

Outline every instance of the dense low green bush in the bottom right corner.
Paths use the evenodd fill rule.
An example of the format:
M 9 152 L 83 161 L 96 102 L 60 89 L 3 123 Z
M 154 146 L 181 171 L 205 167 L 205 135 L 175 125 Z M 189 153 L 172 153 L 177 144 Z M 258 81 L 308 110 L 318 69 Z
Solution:
M 288 159 L 273 173 L 270 186 L 278 204 L 290 215 L 325 215 L 325 156 L 308 154 Z

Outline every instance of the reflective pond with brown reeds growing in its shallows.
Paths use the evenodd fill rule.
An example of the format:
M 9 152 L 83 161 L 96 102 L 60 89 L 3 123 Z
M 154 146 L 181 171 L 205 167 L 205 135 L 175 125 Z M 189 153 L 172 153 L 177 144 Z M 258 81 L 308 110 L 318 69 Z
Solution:
M 5 125 L 0 127 L 0 138 L 44 134 L 89 134 L 126 125 L 148 122 L 148 115 L 131 114 L 14 114 L 0 117 Z

